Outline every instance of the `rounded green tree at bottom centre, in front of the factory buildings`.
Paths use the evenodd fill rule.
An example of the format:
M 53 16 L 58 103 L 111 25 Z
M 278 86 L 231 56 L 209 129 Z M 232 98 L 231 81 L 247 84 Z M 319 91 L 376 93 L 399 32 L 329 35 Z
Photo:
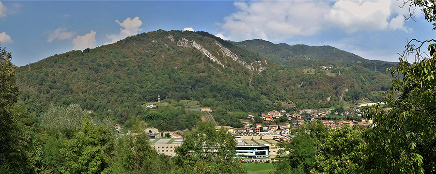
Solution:
M 234 162 L 236 142 L 225 129 L 215 130 L 211 122 L 199 122 L 197 131 L 186 134 L 175 149 L 177 165 L 189 174 L 243 174 L 244 168 Z

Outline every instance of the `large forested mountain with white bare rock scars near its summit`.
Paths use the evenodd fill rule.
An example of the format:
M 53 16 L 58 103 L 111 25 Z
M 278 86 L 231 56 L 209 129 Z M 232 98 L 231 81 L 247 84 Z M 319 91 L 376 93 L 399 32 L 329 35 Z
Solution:
M 287 46 L 271 45 L 278 47 L 285 52 Z M 199 101 L 212 107 L 221 125 L 232 126 L 229 111 L 294 104 L 325 108 L 362 97 L 377 101 L 372 93 L 390 87 L 389 77 L 358 65 L 283 69 L 262 54 L 207 32 L 158 30 L 56 54 L 19 67 L 16 77 L 29 112 L 40 115 L 50 103 L 78 103 L 121 124 L 143 118 L 147 113 L 141 105 L 156 102 L 157 95 Z

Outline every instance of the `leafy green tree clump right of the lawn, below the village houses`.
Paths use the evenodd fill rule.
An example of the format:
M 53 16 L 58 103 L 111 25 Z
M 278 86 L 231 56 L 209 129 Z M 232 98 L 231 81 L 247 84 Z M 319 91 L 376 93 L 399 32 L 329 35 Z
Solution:
M 329 129 L 320 121 L 297 128 L 297 136 L 281 142 L 288 156 L 275 166 L 275 174 L 361 173 L 365 143 L 357 126 Z

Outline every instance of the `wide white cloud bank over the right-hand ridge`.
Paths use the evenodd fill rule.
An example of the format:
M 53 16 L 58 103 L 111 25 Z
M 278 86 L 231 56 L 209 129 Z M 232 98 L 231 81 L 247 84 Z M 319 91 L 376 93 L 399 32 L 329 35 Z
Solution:
M 360 31 L 410 31 L 400 17 L 408 13 L 401 2 L 378 1 L 236 1 L 237 12 L 224 17 L 222 35 L 239 41 L 265 39 L 281 42 L 339 28 Z

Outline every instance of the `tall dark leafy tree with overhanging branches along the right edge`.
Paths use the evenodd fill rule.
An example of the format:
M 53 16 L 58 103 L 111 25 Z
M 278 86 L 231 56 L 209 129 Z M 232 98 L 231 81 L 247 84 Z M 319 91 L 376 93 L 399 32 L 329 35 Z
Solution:
M 412 10 L 409 17 L 413 18 L 413 10 L 419 7 L 425 19 L 433 22 L 433 30 L 436 29 L 435 0 L 407 2 Z M 379 105 L 364 109 L 368 118 L 374 118 L 374 127 L 364 134 L 368 142 L 365 168 L 371 173 L 436 172 L 435 42 L 435 39 L 410 40 L 400 55 L 398 67 L 389 68 L 396 79 L 382 101 L 392 109 L 385 111 Z M 424 44 L 429 44 L 429 54 L 421 52 Z M 409 63 L 407 58 L 415 60 Z

